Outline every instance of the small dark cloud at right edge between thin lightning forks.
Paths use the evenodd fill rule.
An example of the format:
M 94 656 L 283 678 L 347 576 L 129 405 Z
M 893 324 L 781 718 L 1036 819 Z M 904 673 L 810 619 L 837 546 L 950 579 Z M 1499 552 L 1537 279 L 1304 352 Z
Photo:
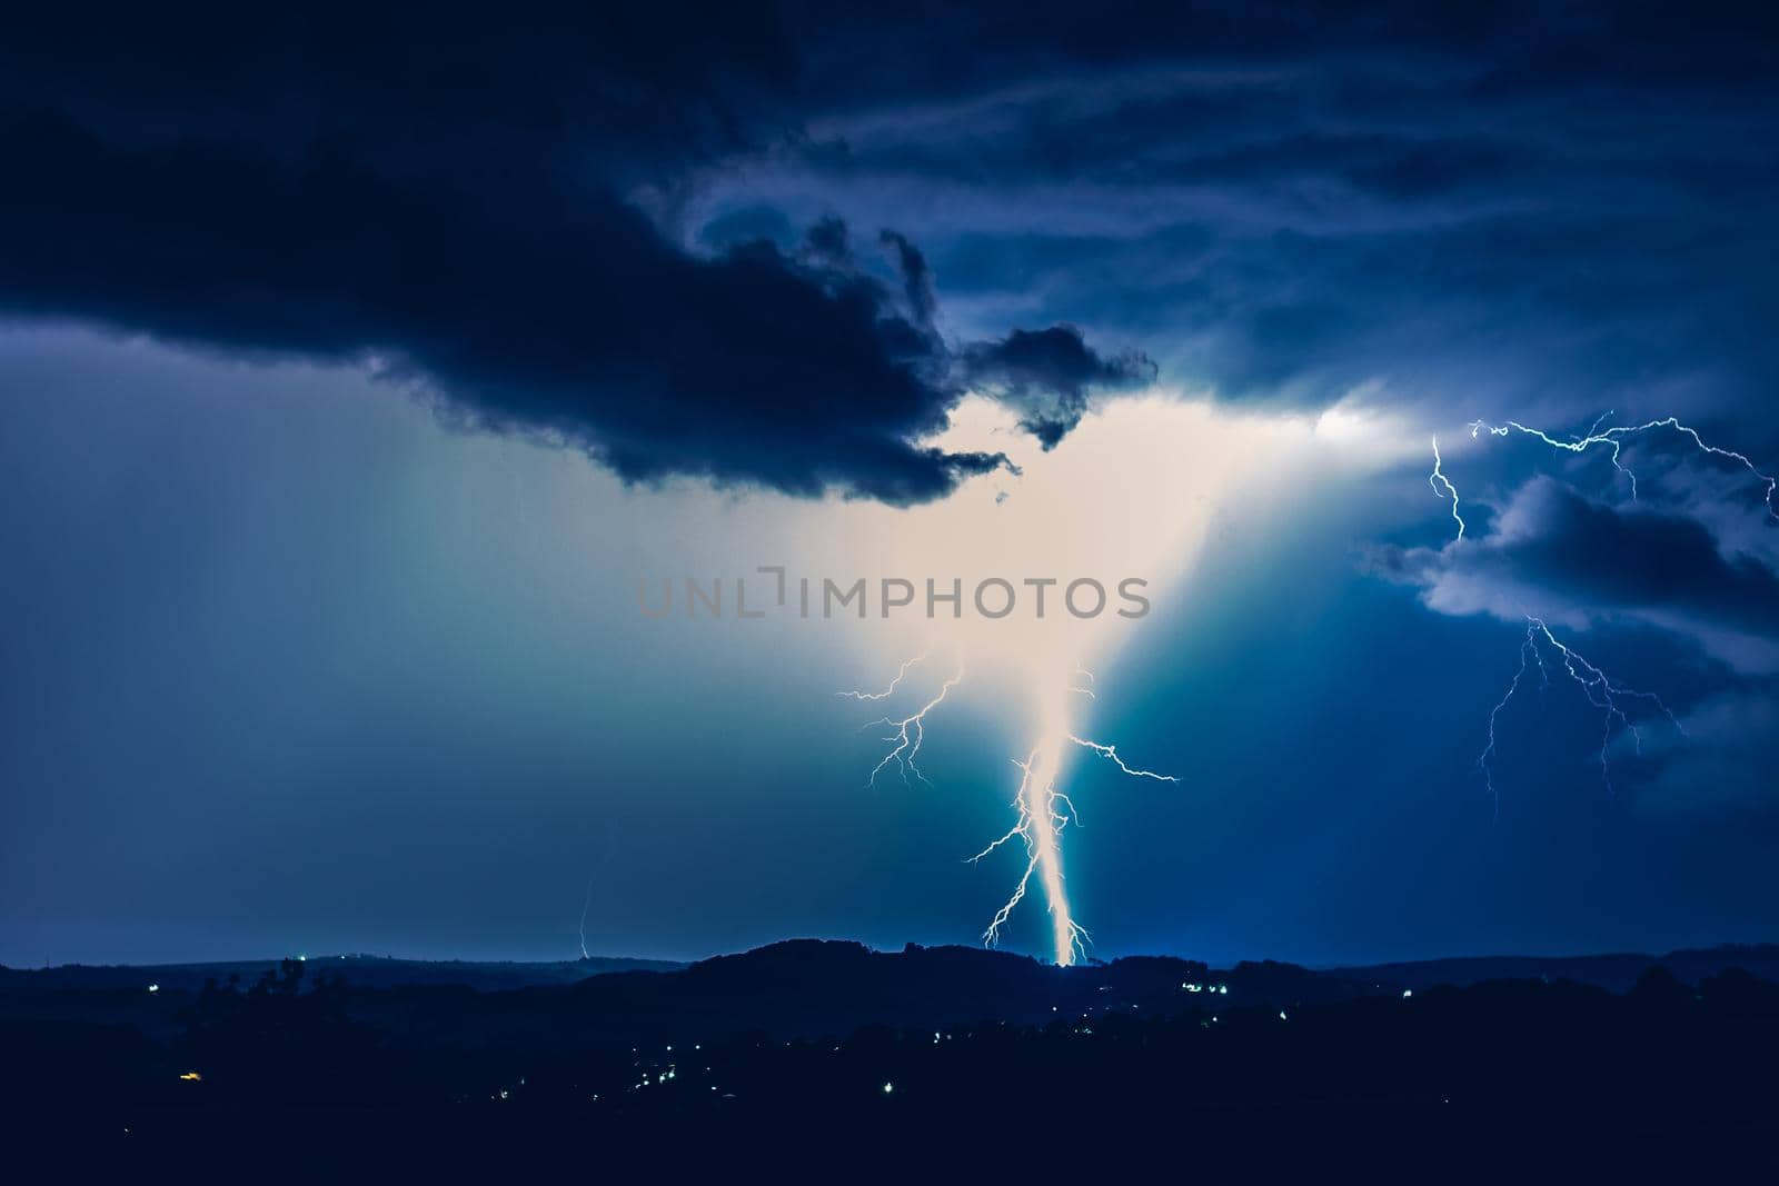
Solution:
M 1758 669 L 1779 644 L 1779 574 L 1768 562 L 1726 551 L 1692 516 L 1606 505 L 1548 477 L 1519 487 L 1480 537 L 1373 548 L 1366 564 L 1421 589 L 1441 613 L 1574 626 L 1635 619 Z

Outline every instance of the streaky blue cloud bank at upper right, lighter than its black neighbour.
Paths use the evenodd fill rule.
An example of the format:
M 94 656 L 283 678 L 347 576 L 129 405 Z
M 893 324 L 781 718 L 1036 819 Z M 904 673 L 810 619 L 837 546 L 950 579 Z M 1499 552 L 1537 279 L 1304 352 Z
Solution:
M 1708 400 L 1779 448 L 1770 9 L 900 12 L 809 39 L 809 135 L 735 194 L 943 210 L 902 229 L 984 336 L 1128 336 L 1244 400 Z

